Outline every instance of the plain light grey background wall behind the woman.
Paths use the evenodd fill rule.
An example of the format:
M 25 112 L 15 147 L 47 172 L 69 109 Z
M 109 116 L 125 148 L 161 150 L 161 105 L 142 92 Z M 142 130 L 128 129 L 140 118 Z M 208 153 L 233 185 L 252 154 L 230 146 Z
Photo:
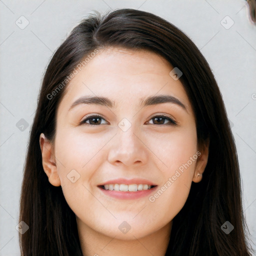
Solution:
M 0 255 L 20 254 L 15 226 L 22 167 L 49 58 L 91 10 L 121 7 L 149 11 L 172 22 L 209 62 L 232 123 L 244 212 L 256 243 L 256 25 L 245 0 L 0 0 Z M 234 21 L 229 29 L 221 24 L 226 15 Z M 15 24 L 25 24 L 20 16 L 29 21 L 24 29 Z M 223 22 L 231 24 L 228 18 Z M 23 131 L 16 126 L 21 118 L 28 123 Z

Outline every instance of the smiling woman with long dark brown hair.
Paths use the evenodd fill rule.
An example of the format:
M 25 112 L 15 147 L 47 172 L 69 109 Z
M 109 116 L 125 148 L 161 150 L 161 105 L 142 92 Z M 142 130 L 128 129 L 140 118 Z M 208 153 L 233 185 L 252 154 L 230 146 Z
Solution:
M 21 254 L 251 255 L 240 189 L 223 100 L 195 44 L 144 11 L 82 20 L 42 81 Z

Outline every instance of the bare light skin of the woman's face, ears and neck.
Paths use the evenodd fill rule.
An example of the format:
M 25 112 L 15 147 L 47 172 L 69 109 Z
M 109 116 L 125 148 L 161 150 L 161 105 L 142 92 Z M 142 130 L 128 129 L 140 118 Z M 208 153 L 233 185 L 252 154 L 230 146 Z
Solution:
M 52 185 L 61 185 L 76 215 L 83 255 L 164 255 L 172 219 L 183 207 L 191 182 L 202 178 L 197 174 L 206 166 L 208 146 L 153 202 L 148 196 L 116 199 L 97 187 L 119 177 L 146 178 L 166 187 L 169 177 L 199 150 L 192 107 L 180 80 L 169 75 L 172 69 L 150 51 L 100 50 L 65 87 L 54 143 L 40 135 L 44 171 Z M 141 97 L 157 94 L 178 98 L 186 110 L 169 102 L 139 106 Z M 115 106 L 78 104 L 69 110 L 85 95 L 108 97 Z M 79 124 L 88 114 L 102 119 L 94 126 Z M 158 124 L 152 117 L 159 114 L 177 125 L 163 124 L 168 119 Z M 131 124 L 126 131 L 118 127 L 123 118 Z M 72 169 L 80 175 L 74 183 L 67 178 Z M 126 233 L 118 228 L 123 221 L 130 225 Z

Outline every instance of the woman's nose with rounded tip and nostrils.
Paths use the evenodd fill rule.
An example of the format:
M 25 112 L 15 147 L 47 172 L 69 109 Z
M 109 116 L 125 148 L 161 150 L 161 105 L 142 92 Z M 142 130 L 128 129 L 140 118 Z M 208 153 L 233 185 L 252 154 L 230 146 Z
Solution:
M 135 134 L 132 126 L 126 131 L 118 128 L 110 144 L 108 161 L 114 165 L 143 165 L 147 162 L 149 153 L 145 137 L 141 133 Z

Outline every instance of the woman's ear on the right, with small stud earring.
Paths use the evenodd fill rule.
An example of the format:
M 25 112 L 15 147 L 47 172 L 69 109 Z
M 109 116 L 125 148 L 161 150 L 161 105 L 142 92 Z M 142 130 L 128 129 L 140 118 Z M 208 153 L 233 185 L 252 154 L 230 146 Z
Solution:
M 199 153 L 197 154 L 197 160 L 196 160 L 196 165 L 194 169 L 194 175 L 192 178 L 192 181 L 197 183 L 202 180 L 202 173 L 206 167 L 207 161 L 208 161 L 208 154 L 209 154 L 209 138 L 205 141 L 205 144 L 203 148 L 198 151 Z

